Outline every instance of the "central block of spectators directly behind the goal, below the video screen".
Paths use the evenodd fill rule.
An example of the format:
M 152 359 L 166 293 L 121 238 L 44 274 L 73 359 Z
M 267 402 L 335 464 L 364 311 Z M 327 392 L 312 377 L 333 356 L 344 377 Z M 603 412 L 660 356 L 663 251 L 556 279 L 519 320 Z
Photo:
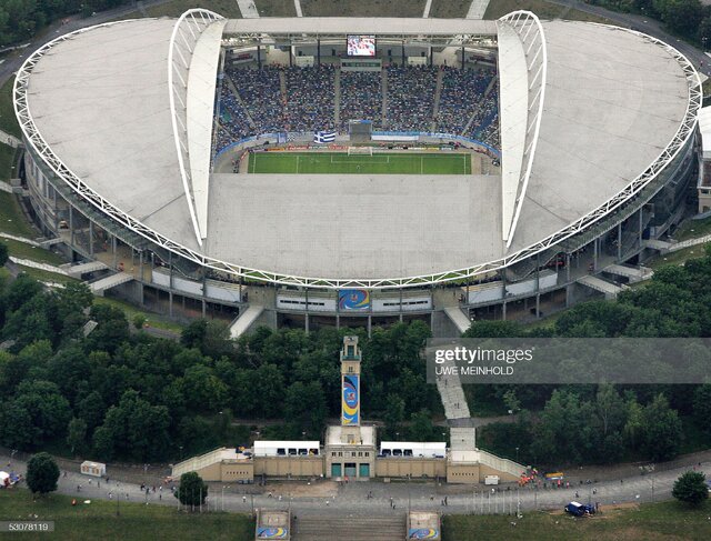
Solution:
M 382 76 L 380 71 L 341 72 L 341 130 L 350 120 L 371 120 L 373 130 L 382 126 Z

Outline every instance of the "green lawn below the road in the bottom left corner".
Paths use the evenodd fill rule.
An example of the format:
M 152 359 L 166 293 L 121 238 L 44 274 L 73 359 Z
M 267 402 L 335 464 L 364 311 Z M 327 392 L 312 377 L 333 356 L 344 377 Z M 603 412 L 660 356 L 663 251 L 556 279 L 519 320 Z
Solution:
M 170 493 L 167 495 L 170 497 Z M 83 500 L 82 500 L 83 502 Z M 116 501 L 92 500 L 91 504 L 71 505 L 71 498 L 49 494 L 32 501 L 28 490 L 0 491 L 0 520 L 53 520 L 53 533 L 38 533 L 9 538 L 74 540 L 157 540 L 157 539 L 254 539 L 251 518 L 237 513 L 186 513 L 164 505 L 143 505 L 121 502 L 120 517 L 116 515 Z M 3 538 L 4 539 L 4 538 Z

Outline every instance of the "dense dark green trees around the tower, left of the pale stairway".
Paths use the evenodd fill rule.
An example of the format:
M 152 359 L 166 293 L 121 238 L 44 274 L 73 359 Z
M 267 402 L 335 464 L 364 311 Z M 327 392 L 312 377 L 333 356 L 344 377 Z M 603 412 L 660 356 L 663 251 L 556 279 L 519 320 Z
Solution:
M 84 337 L 90 319 L 98 327 Z M 0 443 L 22 450 L 176 459 L 247 443 L 230 429 L 234 417 L 283 420 L 262 437 L 320 439 L 327 418 L 340 415 L 339 352 L 353 332 L 365 418 L 388 419 L 393 432 L 411 423 L 411 435 L 430 439 L 430 412 L 441 410 L 424 383 L 422 322 L 374 329 L 371 339 L 262 328 L 236 342 L 223 324 L 199 320 L 178 343 L 130 332 L 124 313 L 92 305 L 83 284 L 48 291 L 21 274 L 2 289 L 0 324 L 10 344 L 0 352 Z

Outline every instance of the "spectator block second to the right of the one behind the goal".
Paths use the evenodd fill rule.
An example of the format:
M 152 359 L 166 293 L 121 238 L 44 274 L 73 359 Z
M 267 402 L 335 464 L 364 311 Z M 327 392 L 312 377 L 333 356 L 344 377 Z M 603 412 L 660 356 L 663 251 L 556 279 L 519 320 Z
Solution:
M 444 67 L 442 71 L 437 131 L 463 133 L 495 71 L 493 68 L 460 70 L 451 67 Z

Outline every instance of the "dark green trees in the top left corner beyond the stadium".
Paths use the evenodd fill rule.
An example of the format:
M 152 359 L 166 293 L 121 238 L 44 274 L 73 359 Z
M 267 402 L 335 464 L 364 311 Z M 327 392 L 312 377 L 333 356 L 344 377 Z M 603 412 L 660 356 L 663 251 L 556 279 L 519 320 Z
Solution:
M 62 17 L 118 8 L 133 0 L 3 0 L 0 2 L 0 47 L 32 38 Z

